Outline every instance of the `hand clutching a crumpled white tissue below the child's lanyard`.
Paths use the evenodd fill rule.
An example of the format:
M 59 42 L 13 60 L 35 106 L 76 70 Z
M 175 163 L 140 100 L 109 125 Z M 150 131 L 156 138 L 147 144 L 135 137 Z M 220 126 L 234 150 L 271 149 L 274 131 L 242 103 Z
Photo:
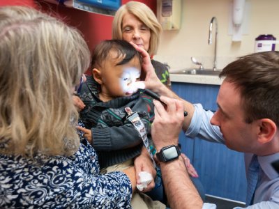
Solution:
M 148 173 L 151 173 L 151 175 L 153 176 L 153 180 L 151 180 L 151 183 L 149 183 L 149 185 L 141 191 L 141 192 L 149 192 L 151 189 L 153 189 L 153 187 L 155 187 L 154 179 L 156 177 L 156 169 L 153 167 L 153 162 L 151 161 L 151 157 L 144 146 L 142 147 L 142 153 L 135 158 L 134 164 L 135 164 L 137 185 L 141 184 L 140 176 L 139 176 L 140 172 L 146 171 Z

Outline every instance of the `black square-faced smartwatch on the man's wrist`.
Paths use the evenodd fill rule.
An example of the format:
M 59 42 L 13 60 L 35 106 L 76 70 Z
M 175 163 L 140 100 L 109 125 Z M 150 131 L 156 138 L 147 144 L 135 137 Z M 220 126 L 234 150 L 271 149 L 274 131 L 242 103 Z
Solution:
M 169 162 L 179 158 L 180 154 L 178 146 L 170 145 L 163 147 L 159 153 L 156 153 L 156 157 L 160 162 Z

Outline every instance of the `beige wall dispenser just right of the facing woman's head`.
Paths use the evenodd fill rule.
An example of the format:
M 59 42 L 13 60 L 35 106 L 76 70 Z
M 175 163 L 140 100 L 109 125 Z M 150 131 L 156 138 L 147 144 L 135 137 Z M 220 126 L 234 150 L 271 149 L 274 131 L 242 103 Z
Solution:
M 163 30 L 180 29 L 181 0 L 157 0 L 157 18 Z

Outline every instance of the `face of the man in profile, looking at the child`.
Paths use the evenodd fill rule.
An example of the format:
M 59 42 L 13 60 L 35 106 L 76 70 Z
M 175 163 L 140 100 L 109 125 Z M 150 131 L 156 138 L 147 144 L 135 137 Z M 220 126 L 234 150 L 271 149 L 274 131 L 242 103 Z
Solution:
M 228 148 L 252 153 L 257 146 L 257 125 L 246 123 L 239 89 L 226 79 L 220 86 L 217 97 L 218 110 L 211 118 L 218 125 Z

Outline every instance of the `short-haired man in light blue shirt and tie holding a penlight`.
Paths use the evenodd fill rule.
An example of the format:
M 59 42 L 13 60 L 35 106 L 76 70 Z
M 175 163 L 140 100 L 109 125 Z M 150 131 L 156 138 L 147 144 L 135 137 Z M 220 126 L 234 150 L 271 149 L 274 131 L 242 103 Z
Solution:
M 146 54 L 142 54 L 146 88 L 181 100 L 157 82 Z M 220 77 L 225 77 L 225 80 L 220 86 L 215 114 L 205 111 L 200 104 L 193 105 L 186 101 L 161 97 L 167 109 L 160 102 L 154 102 L 156 116 L 152 136 L 157 150 L 162 150 L 160 154 L 163 154 L 167 146 L 177 145 L 183 125 L 188 137 L 217 141 L 243 152 L 250 188 L 246 205 L 253 209 L 279 208 L 279 175 L 271 167 L 271 162 L 279 159 L 279 52 L 243 56 L 227 65 Z M 181 118 L 184 109 L 188 111 L 188 116 Z M 170 206 L 202 208 L 202 201 L 188 181 L 179 153 L 177 155 L 176 160 L 161 162 Z M 254 160 L 251 163 L 252 158 L 257 163 L 257 169 L 251 169 L 254 164 Z

